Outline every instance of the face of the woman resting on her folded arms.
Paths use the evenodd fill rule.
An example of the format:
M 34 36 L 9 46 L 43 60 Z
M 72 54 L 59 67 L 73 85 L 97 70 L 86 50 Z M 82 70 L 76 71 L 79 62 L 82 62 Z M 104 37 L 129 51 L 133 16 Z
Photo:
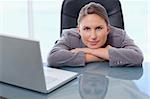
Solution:
M 100 48 L 107 40 L 109 27 L 106 21 L 97 14 L 89 14 L 78 25 L 79 34 L 88 48 Z

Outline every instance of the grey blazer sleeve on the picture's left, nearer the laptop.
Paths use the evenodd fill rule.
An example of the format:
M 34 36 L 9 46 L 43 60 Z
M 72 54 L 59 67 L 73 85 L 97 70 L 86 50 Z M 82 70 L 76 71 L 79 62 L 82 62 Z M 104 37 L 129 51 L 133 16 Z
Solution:
M 66 32 L 66 33 L 65 33 Z M 83 52 L 72 53 L 70 42 L 74 37 L 70 37 L 69 31 L 65 31 L 61 39 L 55 44 L 48 55 L 48 65 L 52 67 L 60 66 L 84 66 L 85 55 Z M 74 42 L 76 43 L 76 42 Z

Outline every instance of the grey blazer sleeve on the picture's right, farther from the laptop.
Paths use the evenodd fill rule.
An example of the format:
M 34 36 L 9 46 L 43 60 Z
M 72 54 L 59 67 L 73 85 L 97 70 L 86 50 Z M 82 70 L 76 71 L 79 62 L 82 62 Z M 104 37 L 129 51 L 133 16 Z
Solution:
M 143 54 L 132 39 L 122 32 L 120 36 L 120 48 L 112 47 L 109 49 L 110 66 L 141 66 Z

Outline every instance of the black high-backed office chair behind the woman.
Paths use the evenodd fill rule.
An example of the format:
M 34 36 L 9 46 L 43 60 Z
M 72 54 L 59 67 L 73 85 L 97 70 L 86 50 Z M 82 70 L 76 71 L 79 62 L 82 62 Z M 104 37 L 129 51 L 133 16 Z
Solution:
M 64 0 L 61 8 L 60 36 L 63 29 L 75 28 L 80 9 L 89 2 L 103 5 L 112 26 L 124 29 L 121 3 L 119 0 Z

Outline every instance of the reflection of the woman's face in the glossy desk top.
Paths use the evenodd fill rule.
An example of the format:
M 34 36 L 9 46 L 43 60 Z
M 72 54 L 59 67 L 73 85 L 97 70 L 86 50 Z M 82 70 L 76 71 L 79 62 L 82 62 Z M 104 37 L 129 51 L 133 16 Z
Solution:
M 82 99 L 104 99 L 108 78 L 104 75 L 85 73 L 79 77 L 79 92 Z

